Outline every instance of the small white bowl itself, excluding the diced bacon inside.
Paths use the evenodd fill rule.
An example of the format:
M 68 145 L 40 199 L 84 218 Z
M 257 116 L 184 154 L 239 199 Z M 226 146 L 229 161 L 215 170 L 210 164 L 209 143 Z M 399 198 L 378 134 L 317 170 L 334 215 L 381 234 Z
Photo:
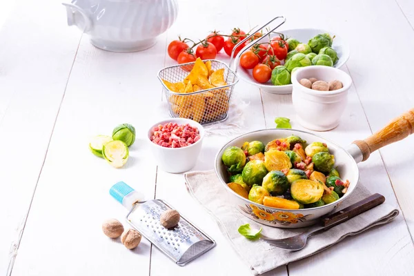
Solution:
M 177 123 L 179 125 L 189 124 L 199 130 L 200 139 L 190 146 L 183 148 L 166 148 L 152 143 L 151 136 L 154 133 L 152 130 L 155 126 L 164 125 L 167 123 Z M 201 144 L 204 139 L 204 128 L 197 121 L 184 118 L 170 118 L 164 121 L 159 121 L 157 124 L 151 126 L 148 130 L 148 143 L 152 148 L 152 154 L 154 155 L 157 165 L 161 170 L 166 172 L 178 173 L 191 170 L 197 161 L 201 150 Z

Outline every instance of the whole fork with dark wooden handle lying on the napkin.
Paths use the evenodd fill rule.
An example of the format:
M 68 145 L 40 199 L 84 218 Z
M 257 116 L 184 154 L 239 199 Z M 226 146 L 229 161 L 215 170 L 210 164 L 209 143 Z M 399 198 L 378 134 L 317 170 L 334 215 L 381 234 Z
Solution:
M 260 239 L 263 239 L 265 242 L 272 246 L 277 246 L 279 248 L 284 248 L 286 250 L 301 250 L 306 246 L 306 242 L 308 241 L 308 237 L 311 235 L 315 235 L 315 233 L 327 230 L 332 228 L 333 226 L 337 226 L 338 224 L 342 224 L 342 222 L 351 219 L 359 214 L 366 212 L 367 210 L 371 210 L 372 208 L 382 204 L 385 201 L 385 197 L 380 194 L 371 195 L 371 197 L 367 197 L 366 199 L 362 199 L 351 206 L 348 206 L 342 210 L 339 210 L 332 215 L 328 215 L 323 217 L 320 221 L 321 226 L 310 230 L 308 232 L 304 232 L 299 235 L 295 235 L 293 237 L 287 237 L 286 239 L 271 239 L 269 237 L 265 237 L 262 235 Z

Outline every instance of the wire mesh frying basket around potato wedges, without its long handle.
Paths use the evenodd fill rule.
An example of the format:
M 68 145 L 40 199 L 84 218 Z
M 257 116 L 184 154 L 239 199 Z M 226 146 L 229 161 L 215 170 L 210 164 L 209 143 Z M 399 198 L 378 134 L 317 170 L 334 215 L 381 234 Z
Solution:
M 226 63 L 215 59 L 210 59 L 210 61 L 211 70 L 216 71 L 224 68 L 226 86 L 199 90 L 197 92 L 177 93 L 168 89 L 163 80 L 171 83 L 184 81 L 189 72 L 184 70 L 183 67 L 194 63 L 170 66 L 159 71 L 158 78 L 164 87 L 170 117 L 193 119 L 203 125 L 227 119 L 230 96 L 239 78 Z

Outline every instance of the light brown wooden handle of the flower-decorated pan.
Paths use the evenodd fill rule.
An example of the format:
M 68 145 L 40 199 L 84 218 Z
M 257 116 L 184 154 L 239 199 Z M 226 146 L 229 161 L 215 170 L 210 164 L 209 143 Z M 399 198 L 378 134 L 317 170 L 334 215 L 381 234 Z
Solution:
M 364 140 L 353 141 L 362 152 L 362 161 L 368 159 L 371 152 L 388 144 L 400 141 L 413 134 L 414 131 L 414 108 L 403 115 L 393 119 L 382 130 L 375 132 Z

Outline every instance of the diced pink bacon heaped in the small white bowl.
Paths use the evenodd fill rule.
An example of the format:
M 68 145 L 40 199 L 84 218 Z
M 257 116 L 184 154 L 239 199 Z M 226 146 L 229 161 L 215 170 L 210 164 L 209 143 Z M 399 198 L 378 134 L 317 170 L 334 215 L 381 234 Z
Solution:
M 152 128 L 151 141 L 166 148 L 182 148 L 197 142 L 201 137 L 199 130 L 189 124 L 167 123 Z

